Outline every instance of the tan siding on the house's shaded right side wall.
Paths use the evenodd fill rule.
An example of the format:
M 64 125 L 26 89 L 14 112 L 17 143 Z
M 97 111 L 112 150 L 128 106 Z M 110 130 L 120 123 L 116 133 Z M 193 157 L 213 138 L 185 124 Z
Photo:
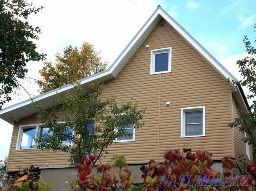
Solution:
M 237 112 L 238 107 L 234 98 L 232 97 L 232 112 L 233 112 L 233 120 L 235 118 L 239 118 L 239 114 Z M 235 148 L 235 158 L 239 166 L 241 166 L 238 157 L 241 156 L 245 159 L 246 163 L 250 163 L 250 160 L 253 161 L 253 149 L 250 146 L 250 160 L 246 155 L 246 144 L 242 142 L 242 139 L 245 138 L 245 134 L 241 133 L 237 127 L 234 128 L 234 148 Z M 244 155 L 244 156 L 242 156 Z

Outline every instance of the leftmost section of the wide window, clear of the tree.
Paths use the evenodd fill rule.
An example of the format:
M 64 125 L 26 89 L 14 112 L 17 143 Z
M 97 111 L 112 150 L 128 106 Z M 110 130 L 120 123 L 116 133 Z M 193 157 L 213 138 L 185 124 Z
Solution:
M 16 149 L 30 149 L 36 147 L 35 136 L 37 124 L 22 125 L 19 127 Z

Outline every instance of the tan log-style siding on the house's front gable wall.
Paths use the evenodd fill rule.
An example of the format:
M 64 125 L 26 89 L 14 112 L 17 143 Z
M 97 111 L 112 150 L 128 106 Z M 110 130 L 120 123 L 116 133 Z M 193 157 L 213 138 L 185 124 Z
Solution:
M 139 109 L 147 111 L 142 120 L 145 126 L 136 129 L 135 141 L 113 143 L 101 162 L 109 161 L 113 154 L 122 154 L 129 164 L 161 161 L 165 150 L 184 146 L 210 151 L 213 159 L 233 153 L 232 130 L 227 124 L 232 121 L 230 92 L 235 89 L 170 25 L 160 23 L 118 76 L 105 83 L 104 97 L 113 95 L 118 104 L 133 98 Z M 172 72 L 150 75 L 151 50 L 167 47 L 172 47 Z M 169 101 L 171 105 L 166 106 Z M 181 108 L 195 106 L 205 106 L 206 136 L 180 138 Z M 68 166 L 68 153 L 15 150 L 19 125 L 33 123 L 37 123 L 35 116 L 15 123 L 8 170 L 23 164 L 44 166 L 46 161 L 49 166 Z

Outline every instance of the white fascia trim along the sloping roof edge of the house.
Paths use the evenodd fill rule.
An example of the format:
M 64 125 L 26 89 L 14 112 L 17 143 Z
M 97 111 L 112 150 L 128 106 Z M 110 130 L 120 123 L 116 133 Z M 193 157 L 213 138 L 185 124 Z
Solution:
M 105 82 L 107 80 L 111 80 L 115 78 L 118 75 L 118 73 L 122 70 L 124 66 L 123 62 L 125 62 L 125 64 L 127 63 L 128 61 L 127 57 L 129 58 L 129 56 L 127 55 L 132 56 L 134 54 L 134 52 L 132 51 L 134 51 L 136 46 L 138 45 L 140 46 L 145 40 L 141 38 L 145 36 L 146 32 L 150 33 L 152 30 L 149 28 L 152 28 L 152 27 L 154 28 L 156 25 L 154 23 L 158 23 L 161 18 L 163 18 L 167 23 L 169 23 L 173 27 L 173 29 L 175 29 L 191 46 L 193 46 L 194 49 L 196 49 L 196 51 L 198 51 L 198 53 L 201 54 L 201 56 L 203 56 L 220 74 L 224 76 L 224 78 L 226 79 L 230 78 L 231 80 L 237 81 L 237 79 L 230 72 L 228 72 L 228 70 L 225 67 L 223 67 L 222 64 L 220 64 L 220 62 L 218 62 L 206 49 L 204 49 L 203 46 L 198 43 L 198 41 L 196 41 L 183 27 L 181 27 L 181 25 L 178 24 L 166 11 L 164 11 L 160 6 L 158 6 L 157 9 L 154 11 L 154 13 L 143 25 L 143 27 L 139 30 L 139 32 L 133 37 L 130 43 L 126 46 L 126 48 L 122 51 L 122 53 L 117 57 L 117 59 L 109 67 L 109 69 L 103 72 L 97 73 L 95 75 L 83 78 L 79 80 L 79 82 L 81 84 L 87 84 L 90 82 L 92 83 L 94 81 L 97 81 L 99 83 L 99 82 Z M 124 60 L 127 60 L 127 61 L 124 61 Z M 57 88 L 52 91 L 46 92 L 44 94 L 38 95 L 34 97 L 33 100 L 34 101 L 44 100 L 53 95 L 56 95 L 60 92 L 65 92 L 72 88 L 74 88 L 74 86 L 71 84 L 68 84 L 66 86 L 63 86 L 62 88 Z M 12 105 L 10 107 L 3 108 L 2 110 L 0 110 L 0 118 L 10 123 L 10 119 L 6 119 L 6 116 L 4 116 L 5 113 L 12 112 L 18 108 L 27 106 L 31 103 L 32 103 L 32 100 L 28 99 L 23 102 Z M 31 107 L 33 107 L 32 104 L 31 104 Z

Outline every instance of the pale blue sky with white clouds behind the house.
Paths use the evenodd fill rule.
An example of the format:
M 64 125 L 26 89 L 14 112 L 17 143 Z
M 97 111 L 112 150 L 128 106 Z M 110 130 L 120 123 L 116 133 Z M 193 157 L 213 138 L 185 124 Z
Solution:
M 30 2 L 30 1 L 29 1 Z M 68 45 L 84 41 L 102 51 L 102 60 L 112 62 L 160 5 L 235 77 L 241 79 L 236 62 L 245 57 L 243 36 L 255 40 L 255 0 L 32 0 L 44 8 L 28 19 L 40 27 L 35 41 L 46 61 Z M 28 77 L 38 79 L 44 62 L 30 62 Z M 34 80 L 22 81 L 31 95 L 37 95 Z M 245 93 L 248 91 L 245 89 Z M 23 91 L 12 94 L 3 108 L 28 99 Z M 13 126 L 0 119 L 0 159 L 8 156 Z

